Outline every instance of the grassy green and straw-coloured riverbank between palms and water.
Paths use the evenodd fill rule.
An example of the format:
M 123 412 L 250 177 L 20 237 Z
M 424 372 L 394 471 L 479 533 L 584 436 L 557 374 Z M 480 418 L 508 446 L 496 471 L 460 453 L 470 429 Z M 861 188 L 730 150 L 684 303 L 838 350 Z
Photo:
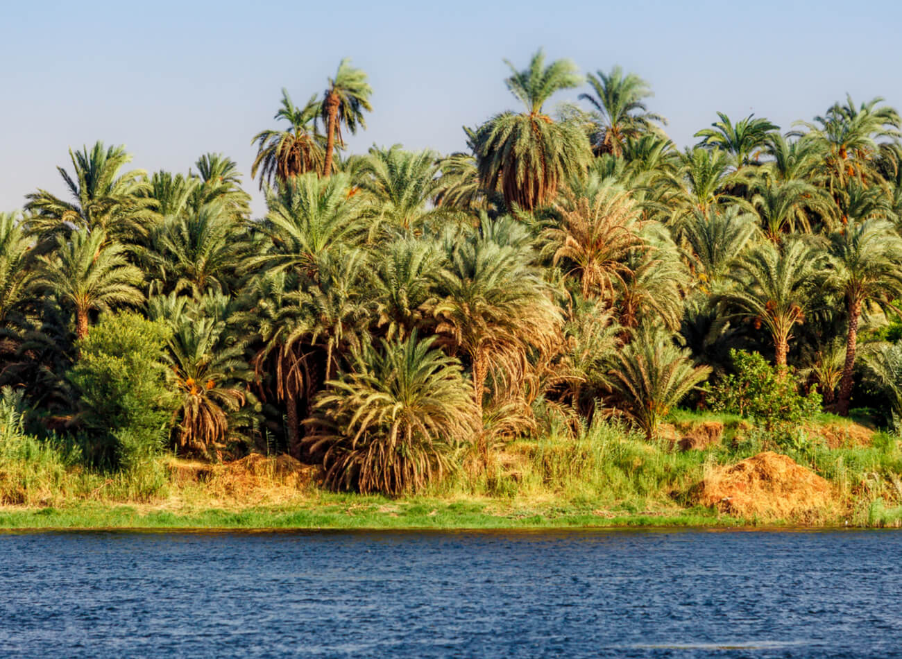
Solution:
M 67 453 L 70 448 L 26 438 L 16 452 L 7 446 L 0 463 L 0 527 L 902 524 L 902 447 L 896 437 L 826 415 L 787 436 L 725 415 L 680 412 L 671 421 L 669 436 L 652 443 L 621 426 L 598 423 L 576 438 L 562 432 L 505 444 L 487 459 L 465 456 L 458 471 L 400 499 L 329 492 L 320 486 L 316 467 L 285 456 L 252 455 L 223 464 L 159 457 L 131 471 L 104 474 L 79 466 Z M 680 449 L 680 435 L 686 444 L 686 438 L 712 428 L 718 435 L 712 444 Z M 703 505 L 705 487 L 720 484 L 724 470 L 762 452 L 780 459 L 786 455 L 788 464 L 797 463 L 794 469 L 810 470 L 810 478 L 819 482 L 823 478 L 829 492 L 811 499 L 814 503 L 799 499 L 804 491 L 771 497 L 761 490 L 759 498 L 778 499 L 741 508 L 738 499 L 718 495 Z M 784 499 L 793 499 L 792 506 L 787 508 Z

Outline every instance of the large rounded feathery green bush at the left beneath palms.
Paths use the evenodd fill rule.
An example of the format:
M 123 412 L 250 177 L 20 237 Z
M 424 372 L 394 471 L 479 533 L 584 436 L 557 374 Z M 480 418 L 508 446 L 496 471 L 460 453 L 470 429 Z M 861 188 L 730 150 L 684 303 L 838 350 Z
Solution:
M 78 342 L 69 381 L 78 390 L 85 453 L 97 466 L 131 468 L 169 435 L 175 398 L 163 347 L 169 330 L 133 313 L 102 316 Z

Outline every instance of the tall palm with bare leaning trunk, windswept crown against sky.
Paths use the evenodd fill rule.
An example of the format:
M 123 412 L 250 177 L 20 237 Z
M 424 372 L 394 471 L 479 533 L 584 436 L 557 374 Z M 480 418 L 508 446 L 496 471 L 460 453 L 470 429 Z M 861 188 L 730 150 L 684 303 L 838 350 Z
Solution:
M 324 155 L 323 176 L 332 171 L 332 153 L 336 140 L 343 147 L 341 127 L 354 134 L 357 125 L 366 128 L 364 110 L 373 112 L 370 95 L 373 89 L 366 83 L 366 74 L 361 69 L 351 67 L 350 59 L 342 59 L 335 78 L 329 78 L 329 85 L 323 94 L 320 116 L 326 124 L 326 153 Z

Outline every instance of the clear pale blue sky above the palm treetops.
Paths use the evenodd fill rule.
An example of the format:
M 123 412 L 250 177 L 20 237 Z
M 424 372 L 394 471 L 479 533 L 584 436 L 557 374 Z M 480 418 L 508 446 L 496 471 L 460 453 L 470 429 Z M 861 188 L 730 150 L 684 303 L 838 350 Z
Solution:
M 279 125 L 281 87 L 303 103 L 342 57 L 373 87 L 352 151 L 463 149 L 462 125 L 516 108 L 502 59 L 525 66 L 539 46 L 584 72 L 620 64 L 649 80 L 649 109 L 680 147 L 717 110 L 787 129 L 846 92 L 902 108 L 900 19 L 902 5 L 884 0 L 0 0 L 0 209 L 36 188 L 61 194 L 69 147 L 99 139 L 148 171 L 223 152 L 259 215 L 251 138 Z

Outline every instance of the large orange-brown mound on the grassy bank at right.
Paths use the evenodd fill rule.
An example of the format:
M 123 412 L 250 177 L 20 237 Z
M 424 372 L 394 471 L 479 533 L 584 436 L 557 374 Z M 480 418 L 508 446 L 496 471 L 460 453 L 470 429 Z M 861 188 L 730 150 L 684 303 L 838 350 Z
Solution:
M 828 481 L 771 451 L 709 469 L 691 494 L 723 513 L 765 519 L 821 517 L 834 500 Z

